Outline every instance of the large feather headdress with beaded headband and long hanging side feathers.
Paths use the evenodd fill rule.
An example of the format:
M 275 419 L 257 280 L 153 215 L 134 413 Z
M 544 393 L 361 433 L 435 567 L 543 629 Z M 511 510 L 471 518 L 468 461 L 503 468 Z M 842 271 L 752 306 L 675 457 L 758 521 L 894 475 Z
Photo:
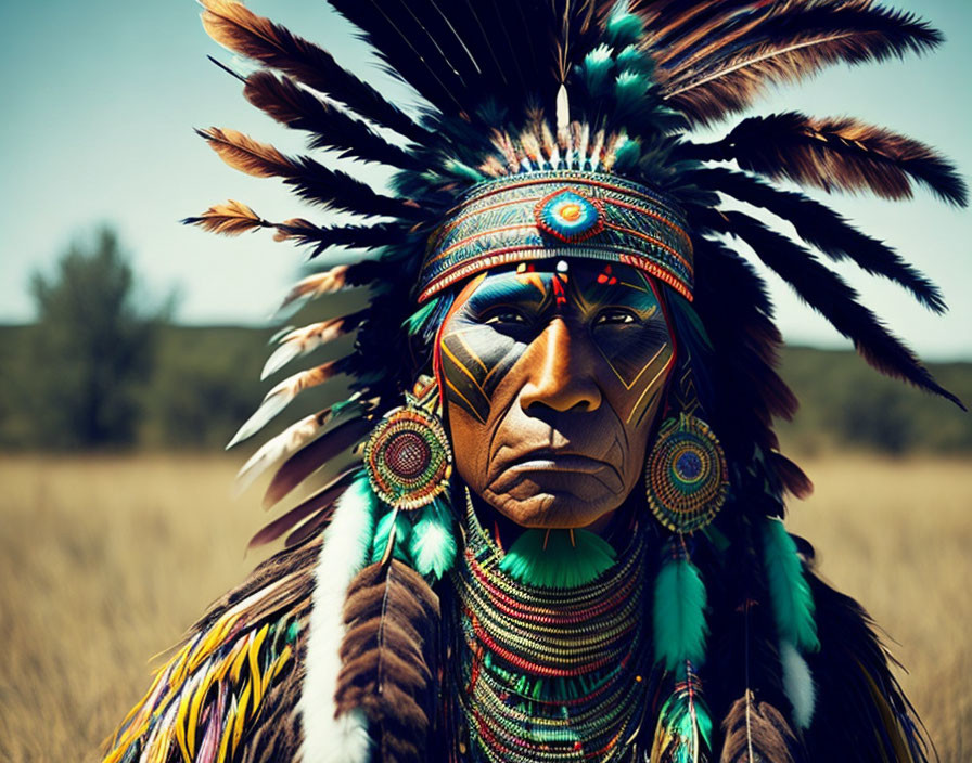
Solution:
M 330 523 L 317 562 L 299 706 L 308 732 L 299 742 L 305 763 L 421 760 L 430 749 L 427 735 L 438 723 L 434 684 L 443 670 L 434 586 L 457 558 L 455 517 L 445 497 L 414 521 L 376 502 L 358 471 L 358 445 L 411 389 L 456 284 L 503 262 L 553 254 L 630 262 L 670 287 L 683 344 L 698 350 L 691 352 L 694 385 L 731 473 L 714 531 L 698 539 L 691 560 L 682 544 L 656 582 L 655 631 L 664 638 L 654 649 L 674 689 L 654 708 L 657 732 L 645 752 L 679 761 L 706 760 L 707 750 L 721 750 L 724 761 L 805 753 L 836 760 L 864 747 L 868 759 L 923 760 L 911 708 L 866 617 L 816 579 L 807 547 L 777 520 L 784 492 L 809 490 L 777 452 L 772 431 L 773 417 L 790 417 L 796 401 L 776 372 L 781 337 L 766 284 L 731 242 L 744 242 L 880 372 L 958 403 L 826 260 L 850 260 L 942 311 L 935 285 L 880 240 L 777 182 L 893 199 L 929 191 L 957 206 L 967 204 L 967 186 L 932 147 L 850 118 L 752 117 L 709 142 L 694 140 L 692 130 L 725 124 L 775 83 L 835 63 L 925 53 L 942 36 L 872 0 L 330 2 L 418 93 L 418 109 L 393 103 L 319 46 L 240 2 L 202 0 L 203 23 L 217 42 L 258 65 L 241 77 L 252 104 L 306 133 L 310 151 L 387 166 L 391 191 L 324 159 L 212 127 L 200 135 L 228 165 L 280 178 L 311 208 L 347 212 L 350 221 L 320 224 L 311 209 L 274 222 L 235 201 L 186 220 L 227 235 L 271 229 L 274 238 L 307 247 L 311 258 L 337 246 L 361 253 L 286 296 L 291 309 L 357 289 L 341 301 L 354 306 L 346 314 L 283 334 L 264 375 L 329 342 L 347 353 L 278 383 L 233 438 L 256 435 L 297 395 L 337 375 L 350 379 L 347 401 L 276 436 L 243 468 L 252 479 L 280 464 L 268 506 L 303 483 L 311 489 L 254 543 L 289 532 L 294 551 L 284 555 L 302 554 Z M 555 195 L 567 180 L 583 186 L 583 201 L 608 224 L 575 235 L 539 214 L 530 222 L 534 207 L 517 206 L 526 185 L 550 184 Z M 512 241 L 490 222 L 497 205 L 484 201 L 510 189 L 503 204 L 510 215 L 526 216 L 526 223 L 516 222 L 529 229 Z M 732 202 L 791 223 L 796 236 Z M 469 245 L 461 233 L 470 227 L 496 237 L 476 236 Z M 636 240 L 642 245 L 632 245 Z M 681 612 L 677 621 L 660 602 L 673 603 Z M 250 618 L 239 637 L 248 638 L 257 624 Z M 206 622 L 196 633 L 212 628 Z M 227 645 L 226 654 L 235 648 Z M 274 648 L 263 658 L 257 652 L 271 681 L 274 660 L 285 654 L 282 642 Z M 234 664 L 230 680 L 217 682 L 225 688 L 203 691 L 196 711 L 205 706 L 207 717 L 241 717 Z M 156 695 L 117 738 L 112 760 L 141 754 L 142 747 L 132 752 L 130 729 L 143 722 L 154 735 L 144 748 L 157 752 L 153 760 L 178 758 L 180 750 L 190 760 L 197 746 L 216 743 L 200 725 L 184 746 L 182 736 L 151 732 L 146 719 L 157 721 L 156 710 L 168 717 L 166 708 L 181 707 Z M 171 713 L 181 723 L 182 711 Z M 655 728 L 642 726 L 648 734 Z M 243 734 L 240 740 L 233 730 L 206 760 L 235 760 L 238 750 L 250 749 Z M 289 752 L 296 755 L 297 748 Z

